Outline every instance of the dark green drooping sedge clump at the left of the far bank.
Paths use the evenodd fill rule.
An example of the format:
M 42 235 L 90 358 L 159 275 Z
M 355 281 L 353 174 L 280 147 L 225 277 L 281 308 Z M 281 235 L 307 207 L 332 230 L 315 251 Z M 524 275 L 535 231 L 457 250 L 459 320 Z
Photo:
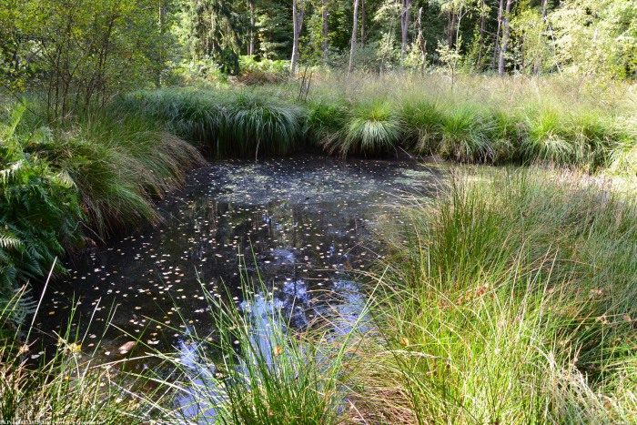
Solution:
M 294 103 L 248 91 L 136 92 L 120 106 L 217 158 L 284 155 L 298 146 L 305 120 Z

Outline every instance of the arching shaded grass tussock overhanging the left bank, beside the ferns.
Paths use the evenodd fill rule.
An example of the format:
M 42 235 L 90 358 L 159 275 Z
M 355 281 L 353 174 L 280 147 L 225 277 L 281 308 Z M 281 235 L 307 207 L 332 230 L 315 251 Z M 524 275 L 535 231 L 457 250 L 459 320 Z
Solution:
M 183 183 L 204 163 L 197 149 L 147 118 L 112 109 L 46 128 L 25 143 L 69 176 L 88 217 L 89 237 L 155 224 L 153 200 Z

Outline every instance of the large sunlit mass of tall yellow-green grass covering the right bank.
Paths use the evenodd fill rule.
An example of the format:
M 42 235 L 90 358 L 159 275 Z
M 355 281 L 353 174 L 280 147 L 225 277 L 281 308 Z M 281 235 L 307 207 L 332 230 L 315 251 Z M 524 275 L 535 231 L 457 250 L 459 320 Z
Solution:
M 637 205 L 599 184 L 537 169 L 457 176 L 405 210 L 388 232 L 386 337 L 359 375 L 369 418 L 637 418 Z

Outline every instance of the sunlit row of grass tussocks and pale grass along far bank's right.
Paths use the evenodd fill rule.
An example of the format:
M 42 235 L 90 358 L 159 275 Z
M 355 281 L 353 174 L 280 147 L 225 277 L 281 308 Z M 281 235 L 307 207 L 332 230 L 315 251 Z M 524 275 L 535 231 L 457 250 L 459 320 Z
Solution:
M 397 145 L 460 162 L 609 167 L 626 140 L 635 139 L 630 91 L 619 83 L 605 91 L 576 85 L 568 78 L 460 76 L 450 85 L 436 75 L 335 75 L 320 77 L 309 101 L 356 106 L 344 111 L 340 132 L 330 131 L 327 140 L 318 137 L 328 152 L 339 155 L 357 153 L 351 147 L 373 140 L 375 146 Z M 385 116 L 399 120 L 400 136 L 376 131 L 382 126 L 370 125 L 376 123 L 369 118 L 373 108 L 359 105 L 389 106 Z M 365 123 L 374 137 L 360 136 L 366 134 Z

